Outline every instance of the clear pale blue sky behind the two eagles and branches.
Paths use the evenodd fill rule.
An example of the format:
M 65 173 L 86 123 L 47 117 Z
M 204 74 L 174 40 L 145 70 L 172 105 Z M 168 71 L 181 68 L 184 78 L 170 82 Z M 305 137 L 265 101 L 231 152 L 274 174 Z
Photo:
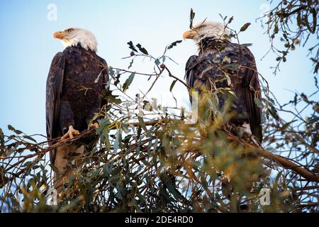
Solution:
M 57 21 L 47 19 L 48 4 L 57 6 Z M 306 49 L 297 48 L 288 57 L 281 72 L 274 77 L 270 66 L 275 64 L 274 55 L 262 62 L 260 59 L 269 48 L 267 35 L 260 23 L 255 23 L 262 13 L 266 0 L 253 1 L 1 1 L 0 2 L 0 127 L 8 124 L 26 133 L 45 134 L 45 83 L 52 57 L 63 50 L 62 44 L 52 38 L 52 33 L 68 27 L 86 28 L 96 35 L 99 55 L 108 65 L 126 68 L 129 54 L 128 41 L 142 43 L 155 56 L 164 47 L 189 28 L 189 10 L 196 12 L 196 20 L 208 18 L 220 21 L 218 13 L 234 16 L 232 28 L 239 29 L 244 23 L 252 26 L 240 36 L 242 43 L 253 43 L 250 48 L 257 60 L 260 73 L 269 81 L 270 88 L 280 101 L 288 101 L 293 94 L 288 90 L 315 91 L 311 64 Z M 310 40 L 315 43 L 316 40 Z M 190 55 L 196 53 L 191 40 L 184 41 L 169 55 L 179 65 L 168 67 L 179 78 L 184 77 L 184 65 Z M 135 70 L 152 72 L 147 64 L 137 62 Z M 170 78 L 161 79 L 150 98 L 172 104 L 169 93 Z M 131 94 L 147 90 L 145 77 L 138 77 L 130 89 Z M 188 94 L 183 86 L 174 87 L 174 95 L 180 105 L 187 105 Z

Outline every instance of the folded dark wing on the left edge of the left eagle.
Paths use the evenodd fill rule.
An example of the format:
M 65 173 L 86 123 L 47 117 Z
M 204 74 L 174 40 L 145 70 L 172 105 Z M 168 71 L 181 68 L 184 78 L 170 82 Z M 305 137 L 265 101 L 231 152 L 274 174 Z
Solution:
M 65 57 L 58 52 L 52 60 L 50 71 L 47 76 L 46 91 L 46 128 L 49 145 L 52 145 L 52 138 L 59 135 L 60 98 L 62 95 L 63 77 L 65 74 Z M 51 164 L 55 164 L 55 150 L 50 151 Z

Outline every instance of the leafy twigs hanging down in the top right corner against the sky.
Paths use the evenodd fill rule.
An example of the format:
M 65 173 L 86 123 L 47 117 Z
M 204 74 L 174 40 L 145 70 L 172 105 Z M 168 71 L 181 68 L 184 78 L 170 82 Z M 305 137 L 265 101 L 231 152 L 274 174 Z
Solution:
M 272 0 L 270 1 L 272 3 Z M 306 46 L 310 38 L 318 41 L 318 1 L 313 0 L 292 0 L 279 1 L 274 9 L 265 13 L 262 21 L 266 21 L 267 34 L 271 40 L 271 49 L 278 57 L 275 73 L 279 70 L 281 62 L 286 62 L 289 52 L 296 49 L 296 46 Z M 274 40 L 279 38 L 284 43 L 284 50 L 276 48 Z M 308 48 L 310 60 L 313 62 L 313 73 L 318 74 L 319 69 L 319 43 Z M 315 77 L 316 78 L 316 77 Z

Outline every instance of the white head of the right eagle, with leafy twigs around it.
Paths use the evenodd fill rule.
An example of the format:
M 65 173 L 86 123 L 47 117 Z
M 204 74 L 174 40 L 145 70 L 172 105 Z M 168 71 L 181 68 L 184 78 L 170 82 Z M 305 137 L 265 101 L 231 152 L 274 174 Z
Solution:
M 216 38 L 219 40 L 230 40 L 230 31 L 223 23 L 204 21 L 197 23 L 191 30 L 183 34 L 184 39 L 194 40 L 196 43 L 204 38 Z

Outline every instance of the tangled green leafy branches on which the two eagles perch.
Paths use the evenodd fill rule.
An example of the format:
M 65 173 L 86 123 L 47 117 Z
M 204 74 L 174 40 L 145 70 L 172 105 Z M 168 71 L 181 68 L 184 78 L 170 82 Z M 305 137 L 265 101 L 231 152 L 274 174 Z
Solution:
M 286 6 L 284 1 L 281 6 Z M 303 10 L 310 12 L 307 8 L 308 11 L 295 13 L 304 18 Z M 191 28 L 194 16 L 191 11 Z M 225 25 L 229 26 L 233 18 L 223 17 L 223 21 L 228 21 Z M 238 33 L 232 30 L 233 38 L 238 39 L 249 26 L 246 23 Z M 278 29 L 284 32 L 283 27 Z M 319 104 L 313 100 L 316 93 L 296 94 L 289 103 L 279 104 L 262 79 L 263 99 L 255 99 L 264 112 L 262 146 L 228 123 L 231 99 L 224 109 L 218 108 L 216 99 L 216 92 L 223 91 L 203 92 L 198 101 L 198 121 L 188 124 L 191 116 L 184 109 L 161 106 L 147 97 L 163 76 L 172 78 L 167 91 L 174 92 L 177 82 L 188 89 L 165 62 L 170 60 L 167 51 L 179 43 L 177 40 L 167 45 L 159 57 L 152 56 L 140 44 L 128 43 L 132 51 L 127 57 L 131 60 L 128 70 L 108 67 L 113 91 L 101 94 L 108 105 L 98 114 L 103 118 L 96 130 L 84 131 L 74 139 L 49 147 L 45 137 L 44 142 L 38 143 L 39 135 L 26 135 L 13 126 L 8 127 L 11 135 L 4 135 L 0 129 L 1 211 L 318 211 Z M 139 57 L 149 58 L 154 72 L 129 71 Z M 128 77 L 123 82 L 125 75 Z M 152 79 L 152 84 L 145 94 L 131 97 L 127 91 L 136 77 Z M 295 111 L 288 108 L 291 105 Z M 312 111 L 305 118 L 303 111 L 309 109 Z M 288 111 L 292 119 L 280 118 Z M 99 143 L 72 163 L 79 171 L 73 172 L 65 184 L 67 194 L 59 197 L 57 206 L 46 205 L 45 195 L 52 187 L 55 171 L 49 165 L 48 153 L 92 134 L 99 136 Z M 270 205 L 260 204 L 259 192 L 264 188 L 270 189 Z

